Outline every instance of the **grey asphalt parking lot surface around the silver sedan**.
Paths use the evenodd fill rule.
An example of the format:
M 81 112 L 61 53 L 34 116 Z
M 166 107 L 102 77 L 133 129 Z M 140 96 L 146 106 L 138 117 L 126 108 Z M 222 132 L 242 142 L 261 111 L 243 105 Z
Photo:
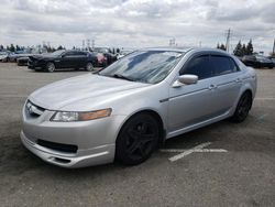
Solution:
M 0 206 L 275 206 L 275 69 L 257 69 L 256 99 L 240 124 L 221 121 L 162 149 L 211 142 L 226 153 L 155 152 L 138 166 L 50 165 L 20 142 L 21 109 L 35 89 L 87 72 L 35 73 L 0 63 Z

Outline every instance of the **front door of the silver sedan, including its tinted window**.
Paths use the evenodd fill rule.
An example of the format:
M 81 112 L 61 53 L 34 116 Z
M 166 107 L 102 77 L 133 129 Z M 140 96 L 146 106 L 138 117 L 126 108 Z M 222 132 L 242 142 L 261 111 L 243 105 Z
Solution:
M 195 56 L 188 61 L 179 75 L 198 76 L 198 83 L 169 88 L 168 126 L 176 131 L 215 117 L 216 85 L 213 70 L 209 64 L 209 55 Z

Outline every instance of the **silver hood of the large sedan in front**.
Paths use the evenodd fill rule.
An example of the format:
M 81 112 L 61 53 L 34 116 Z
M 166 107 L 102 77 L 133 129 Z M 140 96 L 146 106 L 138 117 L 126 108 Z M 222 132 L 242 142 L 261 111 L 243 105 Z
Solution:
M 114 97 L 117 92 L 146 86 L 150 85 L 86 74 L 44 86 L 31 94 L 29 99 L 45 109 L 59 110 L 75 101 L 87 98 L 97 101 L 101 96 Z

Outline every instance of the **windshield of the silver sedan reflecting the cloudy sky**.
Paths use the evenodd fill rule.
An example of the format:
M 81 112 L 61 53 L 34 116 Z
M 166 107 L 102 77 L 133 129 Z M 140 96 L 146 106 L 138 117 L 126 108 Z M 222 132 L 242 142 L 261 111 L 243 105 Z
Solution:
M 99 75 L 157 84 L 169 74 L 183 55 L 182 52 L 138 51 L 105 68 Z

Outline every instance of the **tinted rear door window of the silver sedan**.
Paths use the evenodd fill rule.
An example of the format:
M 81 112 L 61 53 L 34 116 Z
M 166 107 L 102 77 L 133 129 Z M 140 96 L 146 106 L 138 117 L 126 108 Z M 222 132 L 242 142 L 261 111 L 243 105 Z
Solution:
M 229 57 L 210 56 L 210 63 L 215 68 L 215 75 L 223 75 L 234 72 L 234 65 Z

